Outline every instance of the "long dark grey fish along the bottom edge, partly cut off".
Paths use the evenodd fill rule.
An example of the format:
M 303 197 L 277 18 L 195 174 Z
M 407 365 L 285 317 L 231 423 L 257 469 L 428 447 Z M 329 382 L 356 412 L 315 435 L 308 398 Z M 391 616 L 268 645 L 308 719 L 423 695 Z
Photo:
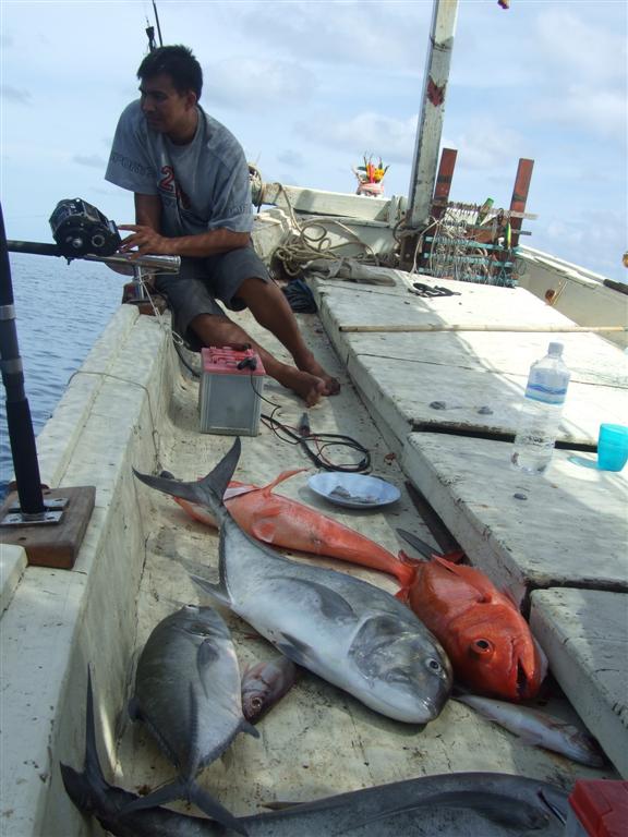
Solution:
M 61 764 L 61 776 L 74 805 L 116 837 L 233 834 L 210 820 L 166 808 L 133 810 L 137 796 L 106 781 L 96 749 L 90 681 L 83 773 Z M 339 793 L 235 822 L 249 837 L 563 837 L 567 811 L 567 793 L 545 781 L 500 773 L 451 773 Z

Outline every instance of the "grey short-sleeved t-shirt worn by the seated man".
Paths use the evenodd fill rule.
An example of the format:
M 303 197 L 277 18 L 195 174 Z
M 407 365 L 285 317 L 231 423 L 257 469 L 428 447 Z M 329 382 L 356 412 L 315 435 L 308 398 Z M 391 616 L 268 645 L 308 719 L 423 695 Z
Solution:
M 165 235 L 253 228 L 249 166 L 225 125 L 198 108 L 194 140 L 174 145 L 148 128 L 140 100 L 124 109 L 105 179 L 143 195 L 159 195 Z

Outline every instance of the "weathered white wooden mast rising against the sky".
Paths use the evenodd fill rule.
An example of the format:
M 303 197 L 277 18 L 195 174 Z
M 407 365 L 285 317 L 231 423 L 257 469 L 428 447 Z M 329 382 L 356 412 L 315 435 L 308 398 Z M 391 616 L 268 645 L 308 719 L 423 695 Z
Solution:
M 416 144 L 406 213 L 406 229 L 411 234 L 403 239 L 402 268 L 412 264 L 416 240 L 427 226 L 430 218 L 457 16 L 458 0 L 434 0 L 423 100 L 416 128 Z

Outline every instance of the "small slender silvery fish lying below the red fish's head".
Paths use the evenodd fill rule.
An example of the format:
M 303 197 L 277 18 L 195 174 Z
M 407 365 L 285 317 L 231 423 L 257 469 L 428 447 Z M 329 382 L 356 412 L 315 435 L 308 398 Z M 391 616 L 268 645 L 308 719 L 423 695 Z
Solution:
M 471 706 L 530 744 L 553 750 L 590 767 L 603 767 L 606 764 L 604 754 L 594 738 L 585 730 L 567 724 L 554 715 L 505 701 L 480 698 L 475 694 L 459 694 L 455 700 Z

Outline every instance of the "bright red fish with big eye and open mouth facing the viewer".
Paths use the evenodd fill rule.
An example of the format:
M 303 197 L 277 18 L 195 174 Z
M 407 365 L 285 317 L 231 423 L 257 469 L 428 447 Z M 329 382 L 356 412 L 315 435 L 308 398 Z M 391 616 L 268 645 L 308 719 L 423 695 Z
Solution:
M 547 660 L 515 603 L 480 570 L 442 557 L 414 572 L 399 598 L 440 641 L 456 679 L 509 701 L 534 698 Z

